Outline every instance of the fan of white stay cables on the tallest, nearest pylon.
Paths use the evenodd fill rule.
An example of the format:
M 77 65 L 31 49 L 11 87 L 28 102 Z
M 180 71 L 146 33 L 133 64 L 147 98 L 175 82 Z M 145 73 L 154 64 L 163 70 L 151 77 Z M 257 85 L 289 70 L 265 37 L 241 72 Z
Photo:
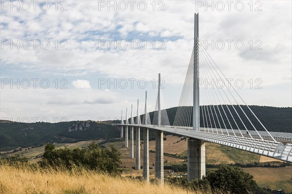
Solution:
M 200 127 L 201 131 L 232 136 L 250 137 L 265 131 L 256 114 L 239 96 L 210 54 L 199 46 Z M 174 126 L 178 129 L 193 126 L 194 50 L 191 55 Z M 242 103 L 243 105 L 241 105 Z M 260 131 L 260 132 L 259 132 Z

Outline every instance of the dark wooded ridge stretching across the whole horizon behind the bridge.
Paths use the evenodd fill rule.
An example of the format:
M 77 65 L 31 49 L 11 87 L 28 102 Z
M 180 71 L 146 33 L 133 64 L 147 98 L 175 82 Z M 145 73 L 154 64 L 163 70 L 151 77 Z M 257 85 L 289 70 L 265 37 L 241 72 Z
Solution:
M 235 110 L 231 105 L 223 106 L 211 106 L 208 107 L 213 110 L 213 114 L 215 112 L 219 116 L 220 113 L 222 115 L 222 119 L 219 119 L 219 122 L 216 119 L 213 120 L 213 117 L 210 113 L 210 118 L 208 112 L 206 111 L 202 113 L 202 107 L 200 107 L 200 124 L 201 127 L 209 126 L 219 128 L 224 128 L 224 123 L 226 128 L 230 129 L 231 126 L 233 129 L 245 129 L 241 122 L 235 123 L 229 113 L 229 110 L 234 116 L 236 121 L 240 121 L 237 113 L 239 114 L 240 118 L 242 119 L 243 123 L 245 124 L 246 128 L 249 130 L 253 130 L 253 126 L 249 124 L 248 119 L 241 111 L 239 106 L 234 106 Z M 207 107 L 205 107 L 206 109 Z M 219 110 L 218 110 L 219 108 Z M 249 116 L 250 120 L 253 122 L 254 126 L 258 130 L 264 130 L 260 123 L 256 120 L 256 117 L 252 115 L 252 113 L 248 110 L 246 106 L 241 107 L 245 113 Z M 292 108 L 276 108 L 276 107 L 268 107 L 268 106 L 250 106 L 251 110 L 256 114 L 262 124 L 268 129 L 269 131 L 278 131 L 278 132 L 292 132 Z M 177 113 L 177 107 L 167 109 L 167 115 L 169 118 L 170 125 L 173 125 L 174 119 Z M 191 110 L 192 107 L 189 107 Z M 215 109 L 215 111 L 214 111 Z M 225 113 L 227 117 L 225 116 Z M 220 113 L 219 113 L 220 111 Z M 192 111 L 190 111 L 192 112 Z M 154 112 L 149 113 L 151 122 L 153 121 Z M 204 115 L 204 117 L 203 117 Z M 220 117 L 220 116 L 219 116 Z M 192 115 L 190 116 L 191 122 L 190 125 L 192 126 Z M 136 119 L 136 117 L 135 117 Z M 143 119 L 143 115 L 141 115 L 141 119 Z M 224 122 L 223 122 L 224 121 Z M 78 123 L 78 121 L 70 121 L 70 122 L 59 122 L 59 123 L 45 123 L 45 122 L 36 122 L 36 123 L 18 123 L 18 122 L 0 122 L 0 151 L 2 150 L 9 150 L 9 149 L 16 149 L 18 147 L 37 147 L 42 146 L 47 142 L 53 143 L 75 143 L 79 141 L 88 141 L 88 140 L 98 140 L 98 139 L 112 139 L 118 138 L 120 136 L 119 131 L 110 121 L 108 124 L 106 122 L 100 123 L 95 121 L 86 121 L 89 122 L 90 127 L 86 130 L 73 130 L 68 132 L 69 127 L 72 127 L 73 124 Z M 114 123 L 120 123 L 120 121 L 114 121 Z M 141 128 L 142 129 L 142 128 Z M 136 130 L 134 130 L 136 133 Z M 164 132 L 164 134 L 171 134 Z M 143 139 L 143 130 L 141 131 L 141 139 Z M 149 140 L 155 140 L 155 130 L 149 130 Z

